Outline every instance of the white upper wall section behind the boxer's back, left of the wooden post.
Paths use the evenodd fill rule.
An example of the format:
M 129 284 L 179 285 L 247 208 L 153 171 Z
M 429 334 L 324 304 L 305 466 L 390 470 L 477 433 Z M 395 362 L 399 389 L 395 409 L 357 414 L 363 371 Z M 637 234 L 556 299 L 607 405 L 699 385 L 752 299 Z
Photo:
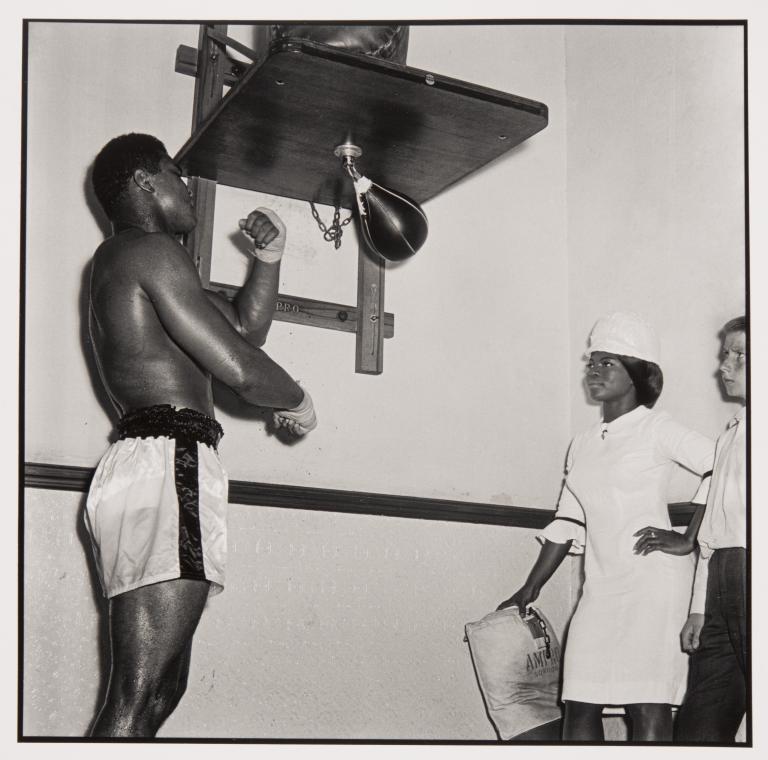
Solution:
M 27 460 L 90 465 L 104 448 L 110 422 L 88 370 L 81 320 L 86 267 L 104 239 L 86 173 L 99 148 L 123 132 L 156 133 L 169 150 L 184 141 L 194 82 L 173 71 L 180 43 L 197 44 L 194 27 L 30 25 Z

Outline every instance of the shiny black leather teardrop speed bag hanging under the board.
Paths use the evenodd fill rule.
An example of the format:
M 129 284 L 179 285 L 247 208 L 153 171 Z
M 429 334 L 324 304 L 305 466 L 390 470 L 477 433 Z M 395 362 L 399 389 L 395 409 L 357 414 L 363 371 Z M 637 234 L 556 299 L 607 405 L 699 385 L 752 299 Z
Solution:
M 374 253 L 402 261 L 424 245 L 429 225 L 416 201 L 368 177 L 355 180 L 355 191 L 363 239 Z

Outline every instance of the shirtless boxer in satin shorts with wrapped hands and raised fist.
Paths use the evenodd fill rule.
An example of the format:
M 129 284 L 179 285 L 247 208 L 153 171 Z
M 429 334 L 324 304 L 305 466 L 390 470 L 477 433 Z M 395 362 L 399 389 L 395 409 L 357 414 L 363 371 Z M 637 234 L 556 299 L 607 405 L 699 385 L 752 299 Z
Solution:
M 227 477 L 212 377 L 296 435 L 316 420 L 309 394 L 261 350 L 285 246 L 279 217 L 257 209 L 240 220 L 254 261 L 230 303 L 203 289 L 178 240 L 195 210 L 159 140 L 111 140 L 93 187 L 113 234 L 93 258 L 90 334 L 120 421 L 85 514 L 112 656 L 91 735 L 151 737 L 184 692 L 195 628 L 224 583 Z

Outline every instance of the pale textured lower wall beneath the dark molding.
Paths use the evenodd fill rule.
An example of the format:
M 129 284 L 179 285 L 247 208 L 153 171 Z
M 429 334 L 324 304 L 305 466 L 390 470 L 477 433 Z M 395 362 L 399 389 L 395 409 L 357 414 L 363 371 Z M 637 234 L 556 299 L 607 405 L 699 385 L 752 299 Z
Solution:
M 105 619 L 78 537 L 82 497 L 26 499 L 25 732 L 80 736 Z M 464 623 L 522 581 L 533 531 L 233 506 L 229 580 L 161 736 L 493 739 Z M 571 573 L 541 606 L 558 632 Z

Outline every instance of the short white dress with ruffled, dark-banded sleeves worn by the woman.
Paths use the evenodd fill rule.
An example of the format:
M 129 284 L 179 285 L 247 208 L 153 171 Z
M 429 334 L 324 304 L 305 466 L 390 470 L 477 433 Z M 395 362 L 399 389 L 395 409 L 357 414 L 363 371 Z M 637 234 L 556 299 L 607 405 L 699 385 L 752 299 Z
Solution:
M 584 587 L 565 641 L 563 700 L 680 704 L 694 555 L 635 554 L 633 534 L 670 529 L 677 464 L 712 469 L 712 440 L 645 406 L 576 436 L 554 520 L 538 536 L 584 553 Z

